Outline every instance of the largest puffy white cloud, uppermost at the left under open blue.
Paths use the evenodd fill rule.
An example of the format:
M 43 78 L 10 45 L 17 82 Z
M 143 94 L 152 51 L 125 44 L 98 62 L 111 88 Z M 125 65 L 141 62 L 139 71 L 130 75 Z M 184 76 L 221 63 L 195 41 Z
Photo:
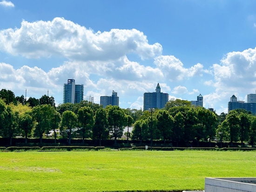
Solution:
M 72 60 L 117 60 L 127 53 L 141 59 L 161 55 L 159 43 L 148 44 L 147 37 L 136 29 L 111 29 L 97 32 L 64 18 L 28 22 L 20 28 L 0 31 L 0 50 L 27 58 L 57 55 Z

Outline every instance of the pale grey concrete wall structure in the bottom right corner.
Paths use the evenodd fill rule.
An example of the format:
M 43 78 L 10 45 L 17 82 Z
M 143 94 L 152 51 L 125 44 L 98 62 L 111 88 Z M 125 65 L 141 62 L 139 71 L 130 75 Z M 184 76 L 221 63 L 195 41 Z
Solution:
M 205 192 L 256 192 L 256 178 L 205 178 Z

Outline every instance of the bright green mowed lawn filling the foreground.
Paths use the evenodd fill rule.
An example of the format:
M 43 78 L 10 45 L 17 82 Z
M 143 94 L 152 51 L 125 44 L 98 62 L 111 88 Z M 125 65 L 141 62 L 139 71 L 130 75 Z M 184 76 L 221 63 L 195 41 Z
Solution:
M 202 190 L 205 177 L 256 177 L 256 152 L 0 152 L 1 192 Z

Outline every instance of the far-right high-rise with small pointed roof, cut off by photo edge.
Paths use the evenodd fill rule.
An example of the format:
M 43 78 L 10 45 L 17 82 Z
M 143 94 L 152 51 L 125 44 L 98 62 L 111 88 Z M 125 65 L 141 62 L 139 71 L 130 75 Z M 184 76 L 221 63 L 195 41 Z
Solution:
M 247 95 L 247 103 L 245 103 L 244 101 L 237 101 L 236 96 L 232 95 L 228 104 L 228 110 L 231 111 L 234 109 L 245 109 L 248 112 L 256 114 L 256 102 L 254 100 L 254 95 L 255 94 Z

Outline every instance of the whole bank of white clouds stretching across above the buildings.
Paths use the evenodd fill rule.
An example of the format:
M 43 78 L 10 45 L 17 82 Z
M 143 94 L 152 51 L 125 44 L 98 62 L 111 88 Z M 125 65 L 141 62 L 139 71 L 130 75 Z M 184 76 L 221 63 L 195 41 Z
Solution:
M 227 53 L 220 63 L 209 69 L 200 63 L 185 67 L 174 55 L 162 55 L 162 46 L 157 42 L 149 44 L 141 31 L 94 32 L 64 18 L 23 20 L 20 28 L 0 30 L 0 51 L 28 60 L 51 57 L 66 60 L 47 71 L 44 65 L 50 63 L 15 68 L 14 63 L 0 61 L 1 87 L 49 89 L 54 98 L 59 98 L 58 103 L 62 102 L 63 84 L 71 78 L 84 84 L 85 99 L 91 95 L 94 102 L 99 103 L 101 95 L 110 95 L 115 90 L 121 104 L 131 108 L 143 108 L 143 93 L 155 91 L 157 83 L 170 98 L 186 99 L 206 89 L 212 90 L 202 94 L 205 107 L 221 106 L 220 110 L 225 112 L 233 94 L 244 97 L 256 89 L 255 48 Z M 140 59 L 129 58 L 131 53 Z

